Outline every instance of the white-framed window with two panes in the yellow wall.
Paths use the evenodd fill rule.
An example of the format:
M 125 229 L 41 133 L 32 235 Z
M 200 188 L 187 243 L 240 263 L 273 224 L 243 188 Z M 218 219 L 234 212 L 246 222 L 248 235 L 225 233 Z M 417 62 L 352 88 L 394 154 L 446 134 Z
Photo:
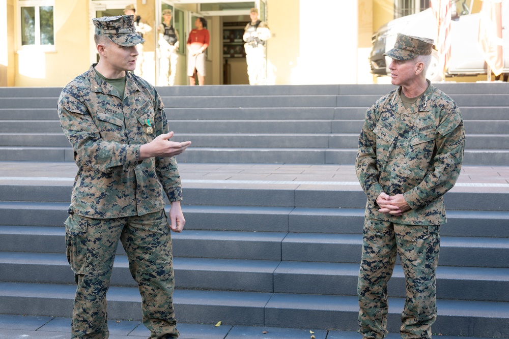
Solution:
M 54 0 L 18 0 L 19 46 L 54 49 Z

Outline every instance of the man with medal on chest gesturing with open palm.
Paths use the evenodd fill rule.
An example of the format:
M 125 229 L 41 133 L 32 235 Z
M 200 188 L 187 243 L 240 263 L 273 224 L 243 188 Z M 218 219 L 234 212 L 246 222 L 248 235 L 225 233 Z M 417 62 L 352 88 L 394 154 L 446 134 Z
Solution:
M 169 140 L 173 133 L 155 88 L 128 72 L 143 41 L 133 17 L 93 22 L 99 63 L 71 81 L 58 103 L 78 166 L 65 222 L 77 284 L 72 337 L 109 336 L 106 292 L 121 240 L 151 338 L 177 338 L 170 228 L 180 232 L 185 220 L 174 156 L 190 142 Z M 163 194 L 171 202 L 170 227 Z

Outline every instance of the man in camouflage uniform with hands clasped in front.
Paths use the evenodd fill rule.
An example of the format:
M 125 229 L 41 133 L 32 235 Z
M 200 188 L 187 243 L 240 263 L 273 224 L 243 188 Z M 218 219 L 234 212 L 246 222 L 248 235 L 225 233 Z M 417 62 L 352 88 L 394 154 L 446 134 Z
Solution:
M 398 35 L 386 53 L 400 85 L 366 112 L 356 172 L 366 193 L 358 280 L 359 333 L 387 334 L 387 282 L 399 254 L 406 280 L 402 338 L 431 338 L 443 195 L 460 174 L 465 132 L 460 109 L 426 79 L 433 40 Z M 424 60 L 424 61 L 422 61 Z

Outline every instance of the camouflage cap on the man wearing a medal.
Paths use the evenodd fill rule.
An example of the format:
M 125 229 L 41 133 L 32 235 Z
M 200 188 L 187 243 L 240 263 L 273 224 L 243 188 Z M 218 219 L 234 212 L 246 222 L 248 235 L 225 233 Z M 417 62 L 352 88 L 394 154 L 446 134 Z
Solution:
M 92 21 L 95 34 L 107 37 L 117 45 L 129 47 L 145 41 L 136 32 L 132 15 L 103 16 Z

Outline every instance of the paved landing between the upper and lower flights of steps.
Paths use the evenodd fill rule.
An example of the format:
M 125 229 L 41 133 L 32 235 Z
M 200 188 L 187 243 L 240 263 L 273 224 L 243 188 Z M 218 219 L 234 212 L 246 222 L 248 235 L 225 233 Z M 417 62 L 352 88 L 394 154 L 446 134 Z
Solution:
M 182 186 L 302 188 L 361 190 L 353 165 L 201 164 L 180 163 Z M 0 162 L 0 184 L 71 185 L 77 167 L 72 162 Z M 463 166 L 451 192 L 509 193 L 509 167 Z

